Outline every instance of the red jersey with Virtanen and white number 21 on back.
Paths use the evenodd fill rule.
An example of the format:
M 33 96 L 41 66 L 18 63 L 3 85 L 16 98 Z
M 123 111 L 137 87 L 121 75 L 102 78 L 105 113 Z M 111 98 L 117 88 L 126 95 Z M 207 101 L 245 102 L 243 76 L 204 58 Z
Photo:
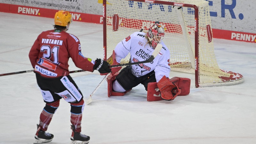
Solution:
M 65 31 L 42 32 L 29 52 L 34 72 L 48 78 L 69 75 L 69 58 L 76 67 L 93 71 L 94 61 L 83 56 L 79 39 Z

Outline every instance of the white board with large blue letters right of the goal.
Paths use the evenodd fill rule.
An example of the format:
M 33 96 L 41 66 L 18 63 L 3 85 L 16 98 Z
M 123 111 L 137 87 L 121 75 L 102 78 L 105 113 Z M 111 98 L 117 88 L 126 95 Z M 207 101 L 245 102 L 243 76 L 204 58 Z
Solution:
M 212 28 L 256 33 L 255 0 L 208 0 Z

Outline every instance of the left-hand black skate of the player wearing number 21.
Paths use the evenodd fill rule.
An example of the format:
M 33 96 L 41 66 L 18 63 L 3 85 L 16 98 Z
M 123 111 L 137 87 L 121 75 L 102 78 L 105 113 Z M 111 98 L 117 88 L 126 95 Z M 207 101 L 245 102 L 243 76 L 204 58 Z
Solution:
M 53 139 L 53 134 L 42 131 L 41 127 L 37 124 L 35 139 L 34 144 L 50 142 Z

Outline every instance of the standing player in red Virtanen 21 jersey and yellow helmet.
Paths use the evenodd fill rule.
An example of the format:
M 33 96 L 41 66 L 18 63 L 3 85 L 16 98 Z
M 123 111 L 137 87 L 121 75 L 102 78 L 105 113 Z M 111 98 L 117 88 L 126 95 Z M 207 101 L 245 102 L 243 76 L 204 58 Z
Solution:
M 84 100 L 82 92 L 69 75 L 68 60 L 72 58 L 76 67 L 93 72 L 109 73 L 111 69 L 106 61 L 91 60 L 83 56 L 79 39 L 67 33 L 72 21 L 68 11 L 58 11 L 54 16 L 54 29 L 42 32 L 29 52 L 29 59 L 36 73 L 37 84 L 40 87 L 45 107 L 40 114 L 39 124 L 34 143 L 50 142 L 53 134 L 45 132 L 52 116 L 59 107 L 60 99 L 70 103 L 71 109 L 71 140 L 89 143 L 90 137 L 81 133 Z

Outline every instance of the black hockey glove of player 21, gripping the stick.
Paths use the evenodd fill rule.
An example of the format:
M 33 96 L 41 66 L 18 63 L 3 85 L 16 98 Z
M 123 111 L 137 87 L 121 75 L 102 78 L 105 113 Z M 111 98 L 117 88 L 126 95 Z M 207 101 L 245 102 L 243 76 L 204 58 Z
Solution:
M 97 59 L 97 60 L 95 60 L 95 64 L 93 66 L 93 69 L 98 70 L 101 74 L 110 73 L 111 69 L 109 68 L 109 66 L 110 65 L 107 61 Z

